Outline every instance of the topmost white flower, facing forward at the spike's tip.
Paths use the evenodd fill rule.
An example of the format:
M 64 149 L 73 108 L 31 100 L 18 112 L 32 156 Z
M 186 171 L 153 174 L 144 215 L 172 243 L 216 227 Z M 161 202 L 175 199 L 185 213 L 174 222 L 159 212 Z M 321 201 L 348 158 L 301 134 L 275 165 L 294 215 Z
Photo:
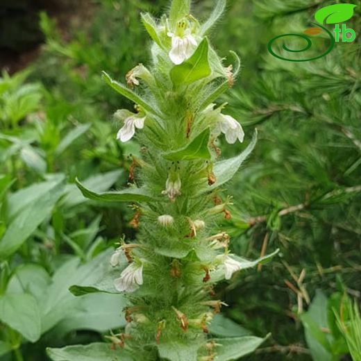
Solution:
M 178 22 L 176 33 L 168 33 L 171 37 L 171 51 L 169 58 L 174 64 L 182 64 L 190 58 L 196 49 L 197 42 L 190 28 L 185 28 L 185 22 Z

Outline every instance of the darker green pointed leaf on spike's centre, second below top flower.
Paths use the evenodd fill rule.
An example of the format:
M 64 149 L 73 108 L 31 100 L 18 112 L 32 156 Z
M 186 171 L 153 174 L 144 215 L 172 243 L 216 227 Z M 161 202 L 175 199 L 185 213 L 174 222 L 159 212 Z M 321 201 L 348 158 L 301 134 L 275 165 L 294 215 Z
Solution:
M 210 160 L 210 151 L 208 149 L 209 139 L 210 128 L 207 128 L 197 135 L 187 146 L 177 151 L 169 151 L 163 154 L 163 157 L 167 160 Z

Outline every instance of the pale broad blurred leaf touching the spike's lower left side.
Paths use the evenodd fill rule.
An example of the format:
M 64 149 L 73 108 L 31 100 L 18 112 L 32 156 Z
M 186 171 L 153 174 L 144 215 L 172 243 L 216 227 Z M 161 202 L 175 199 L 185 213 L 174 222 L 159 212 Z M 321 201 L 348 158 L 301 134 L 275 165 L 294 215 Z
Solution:
M 115 328 L 124 328 L 126 320 L 121 310 L 125 306 L 126 299 L 121 294 L 87 294 L 78 297 L 78 305 L 56 326 L 56 333 L 65 335 L 72 330 L 106 333 Z

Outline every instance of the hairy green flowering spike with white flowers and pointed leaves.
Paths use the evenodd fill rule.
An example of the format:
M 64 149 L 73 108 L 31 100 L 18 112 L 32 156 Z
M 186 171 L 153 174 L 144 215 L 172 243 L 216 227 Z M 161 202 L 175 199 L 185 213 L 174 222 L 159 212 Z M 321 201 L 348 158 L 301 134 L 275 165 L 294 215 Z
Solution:
M 133 156 L 125 190 L 99 194 L 77 185 L 90 199 L 135 204 L 131 224 L 138 233 L 135 242 L 121 241 L 92 285 L 74 286 L 72 292 L 126 294 L 128 324 L 107 336 L 110 345 L 51 349 L 53 360 L 85 360 L 77 355 L 88 355 L 87 360 L 234 360 L 263 341 L 209 335 L 210 321 L 225 305 L 215 299 L 214 285 L 276 253 L 255 261 L 237 257 L 219 228 L 221 217 L 231 217 L 230 199 L 222 197 L 220 187 L 256 142 L 255 134 L 239 156 L 219 160 L 219 137 L 225 135 L 230 144 L 244 140 L 237 120 L 224 114 L 226 104 L 214 103 L 240 70 L 235 53 L 235 64 L 225 67 L 206 37 L 225 5 L 219 0 L 204 24 L 191 15 L 190 0 L 173 0 L 169 16 L 159 22 L 142 15 L 153 40 L 149 69 L 137 65 L 128 72 L 128 87 L 103 73 L 108 85 L 135 103 L 135 112 L 115 112 L 121 122 L 117 139 L 136 137 L 142 156 Z

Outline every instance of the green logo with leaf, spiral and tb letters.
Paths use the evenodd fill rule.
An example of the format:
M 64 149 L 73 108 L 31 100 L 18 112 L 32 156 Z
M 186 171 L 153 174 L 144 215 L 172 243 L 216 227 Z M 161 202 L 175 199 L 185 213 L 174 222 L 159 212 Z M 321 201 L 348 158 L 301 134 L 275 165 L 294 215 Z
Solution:
M 314 19 L 316 19 L 319 24 L 311 23 L 316 27 L 306 29 L 303 31 L 303 34 L 289 33 L 274 37 L 267 44 L 269 53 L 281 60 L 303 62 L 316 60 L 326 56 L 328 53 L 330 53 L 330 51 L 332 51 L 333 47 L 335 46 L 335 42 L 339 42 L 340 40 L 342 42 L 353 42 L 356 38 L 355 31 L 352 28 L 347 28 L 346 24 L 342 24 L 342 27 L 340 27 L 338 23 L 346 22 L 347 20 L 351 19 L 351 17 L 353 17 L 353 9 L 355 7 L 356 5 L 353 3 L 337 3 L 335 5 L 325 6 L 324 8 L 317 10 L 317 12 L 314 14 Z M 328 28 L 323 26 L 324 24 L 335 24 L 335 29 L 333 31 L 335 36 L 328 30 Z M 285 58 L 284 55 L 278 55 L 278 51 L 283 51 L 283 53 L 287 52 L 290 54 L 303 53 L 304 51 L 308 51 L 312 47 L 311 37 L 314 35 L 319 35 L 322 32 L 328 35 L 330 44 L 328 48 L 323 53 L 321 53 L 321 55 L 302 59 Z M 285 44 L 284 40 L 286 40 L 286 37 L 287 40 L 290 39 L 289 37 L 292 37 L 294 40 L 297 39 L 303 42 L 304 45 L 301 46 L 301 49 L 291 49 L 289 45 Z M 278 48 L 276 48 L 277 45 Z M 277 52 L 274 49 L 276 49 Z

